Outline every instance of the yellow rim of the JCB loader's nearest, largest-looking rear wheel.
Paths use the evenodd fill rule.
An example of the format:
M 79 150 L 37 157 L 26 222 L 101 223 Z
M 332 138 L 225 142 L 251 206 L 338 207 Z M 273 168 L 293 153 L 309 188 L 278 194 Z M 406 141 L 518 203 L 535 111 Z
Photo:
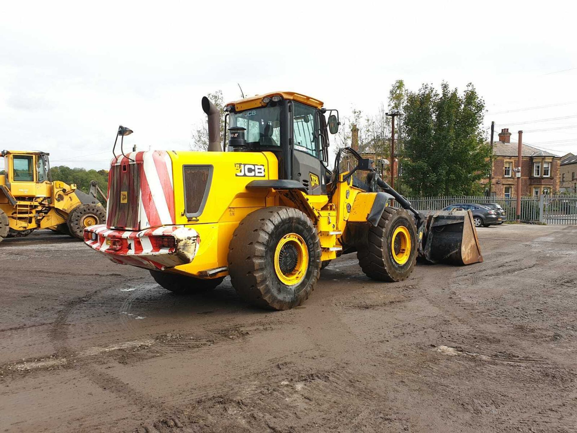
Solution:
M 309 267 L 309 249 L 297 233 L 285 234 L 276 244 L 275 273 L 280 282 L 294 286 L 305 278 Z

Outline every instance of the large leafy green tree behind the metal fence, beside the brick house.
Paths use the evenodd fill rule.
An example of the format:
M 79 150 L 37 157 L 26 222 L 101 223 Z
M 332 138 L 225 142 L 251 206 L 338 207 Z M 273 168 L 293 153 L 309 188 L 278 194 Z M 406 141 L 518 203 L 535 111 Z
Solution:
M 441 84 L 408 92 L 404 104 L 403 181 L 423 196 L 475 195 L 489 170 L 490 147 L 481 129 L 485 103 L 473 84 L 462 94 Z

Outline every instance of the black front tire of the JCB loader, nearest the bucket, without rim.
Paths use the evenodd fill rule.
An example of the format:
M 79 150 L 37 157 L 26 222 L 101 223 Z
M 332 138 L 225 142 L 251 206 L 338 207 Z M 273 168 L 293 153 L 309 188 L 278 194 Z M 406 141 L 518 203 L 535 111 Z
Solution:
M 401 225 L 407 227 L 411 238 L 409 260 L 402 265 L 395 262 L 391 251 L 392 235 Z M 388 282 L 409 278 L 417 260 L 417 227 L 409 212 L 385 207 L 379 224 L 369 229 L 368 246 L 359 248 L 357 258 L 362 271 L 369 278 Z

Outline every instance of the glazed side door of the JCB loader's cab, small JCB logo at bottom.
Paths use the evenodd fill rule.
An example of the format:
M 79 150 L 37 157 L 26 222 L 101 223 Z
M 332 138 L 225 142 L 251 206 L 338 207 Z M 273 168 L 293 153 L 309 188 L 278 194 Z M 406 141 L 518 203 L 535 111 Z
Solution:
M 310 195 L 326 193 L 322 166 L 317 110 L 293 101 L 293 180 L 301 182 Z

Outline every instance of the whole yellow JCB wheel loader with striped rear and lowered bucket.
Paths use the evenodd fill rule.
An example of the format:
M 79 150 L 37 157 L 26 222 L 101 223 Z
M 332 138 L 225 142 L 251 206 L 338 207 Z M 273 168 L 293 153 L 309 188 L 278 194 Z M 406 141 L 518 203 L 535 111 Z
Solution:
M 111 163 L 106 225 L 86 244 L 119 264 L 148 269 L 177 293 L 211 289 L 226 275 L 241 298 L 287 309 L 310 296 L 323 263 L 357 253 L 364 273 L 402 281 L 417 256 L 469 264 L 482 256 L 470 211 L 425 217 L 352 148 L 328 168 L 337 110 L 295 92 L 272 92 L 224 107 L 203 98 L 208 152 L 123 151 Z M 120 154 L 115 154 L 121 137 Z M 340 170 L 348 158 L 354 169 Z M 359 173 L 368 173 L 359 178 Z M 402 208 L 387 206 L 395 199 Z

